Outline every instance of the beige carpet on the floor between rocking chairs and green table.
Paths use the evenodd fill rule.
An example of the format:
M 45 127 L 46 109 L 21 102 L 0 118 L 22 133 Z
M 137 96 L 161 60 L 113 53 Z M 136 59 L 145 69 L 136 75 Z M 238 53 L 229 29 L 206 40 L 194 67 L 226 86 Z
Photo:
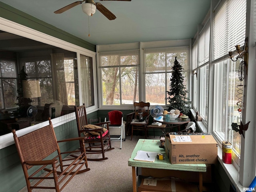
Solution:
M 74 176 L 62 192 L 132 192 L 132 168 L 128 166 L 128 160 L 139 138 L 144 136 L 127 136 L 126 141 L 111 141 L 114 150 L 105 153 L 108 160 L 88 161 L 91 170 Z M 155 139 L 159 137 L 156 136 Z M 148 139 L 154 139 L 149 137 Z M 99 154 L 89 154 L 99 156 Z M 51 192 L 54 190 L 33 190 L 33 192 Z M 27 192 L 24 187 L 20 192 Z

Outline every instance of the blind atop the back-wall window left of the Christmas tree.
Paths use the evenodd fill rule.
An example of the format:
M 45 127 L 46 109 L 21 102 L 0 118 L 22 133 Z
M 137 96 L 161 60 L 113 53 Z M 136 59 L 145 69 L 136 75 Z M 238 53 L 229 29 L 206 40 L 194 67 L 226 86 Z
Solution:
M 140 64 L 139 50 L 99 52 L 99 67 L 134 66 Z

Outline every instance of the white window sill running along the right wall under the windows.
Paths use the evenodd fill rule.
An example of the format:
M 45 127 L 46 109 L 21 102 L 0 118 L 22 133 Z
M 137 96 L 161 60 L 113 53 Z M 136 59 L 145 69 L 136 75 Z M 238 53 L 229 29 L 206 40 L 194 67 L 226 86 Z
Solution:
M 193 116 L 194 119 L 196 119 L 196 111 L 193 109 L 190 109 L 191 114 Z M 207 127 L 206 125 L 201 122 L 201 121 L 195 121 L 198 128 L 200 128 L 200 130 L 202 132 L 207 132 Z M 224 169 L 224 171 L 226 172 L 228 178 L 230 179 L 230 181 L 232 182 L 232 184 L 236 187 L 236 191 L 237 192 L 244 192 L 243 190 L 243 186 L 240 184 L 240 182 L 238 182 L 238 170 L 236 169 L 236 167 L 233 164 L 225 164 L 222 161 L 222 146 L 220 146 L 220 144 L 218 145 L 218 161 L 220 162 L 222 168 Z

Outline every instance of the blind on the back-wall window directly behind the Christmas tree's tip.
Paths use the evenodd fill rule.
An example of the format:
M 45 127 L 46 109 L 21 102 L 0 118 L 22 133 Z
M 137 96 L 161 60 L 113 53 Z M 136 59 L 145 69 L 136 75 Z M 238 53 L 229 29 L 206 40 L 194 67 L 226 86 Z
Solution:
M 184 70 L 189 70 L 189 47 L 144 49 L 145 72 L 171 72 L 175 57 Z

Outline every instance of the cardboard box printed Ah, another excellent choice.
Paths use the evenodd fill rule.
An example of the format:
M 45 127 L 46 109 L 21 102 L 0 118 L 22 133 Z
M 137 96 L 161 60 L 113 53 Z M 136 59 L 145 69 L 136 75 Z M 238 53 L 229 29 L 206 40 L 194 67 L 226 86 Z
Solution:
M 172 164 L 214 164 L 218 144 L 209 133 L 166 134 L 165 152 Z

